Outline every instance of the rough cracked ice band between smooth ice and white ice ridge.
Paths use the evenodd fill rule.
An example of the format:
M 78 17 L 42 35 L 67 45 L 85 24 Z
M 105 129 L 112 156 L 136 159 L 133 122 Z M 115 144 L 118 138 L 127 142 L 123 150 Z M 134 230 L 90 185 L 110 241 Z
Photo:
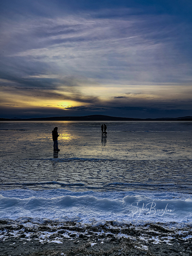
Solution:
M 0 189 L 186 191 L 191 160 L 18 159 L 0 161 Z

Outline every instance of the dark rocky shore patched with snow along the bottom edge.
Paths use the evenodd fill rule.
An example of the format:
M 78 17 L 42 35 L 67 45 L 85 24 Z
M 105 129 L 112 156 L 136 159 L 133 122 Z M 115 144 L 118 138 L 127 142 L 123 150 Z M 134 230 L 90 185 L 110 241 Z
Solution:
M 115 221 L 1 220 L 0 255 L 188 256 L 192 255 L 192 228 L 174 223 L 134 226 Z

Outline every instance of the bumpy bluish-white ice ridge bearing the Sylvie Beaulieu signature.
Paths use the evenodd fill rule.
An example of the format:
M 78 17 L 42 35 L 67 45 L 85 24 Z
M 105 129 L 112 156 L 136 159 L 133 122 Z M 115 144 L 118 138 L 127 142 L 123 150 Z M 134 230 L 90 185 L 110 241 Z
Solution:
M 48 220 L 131 223 L 192 223 L 189 194 L 150 191 L 73 192 L 62 189 L 0 191 L 0 218 L 27 216 Z

